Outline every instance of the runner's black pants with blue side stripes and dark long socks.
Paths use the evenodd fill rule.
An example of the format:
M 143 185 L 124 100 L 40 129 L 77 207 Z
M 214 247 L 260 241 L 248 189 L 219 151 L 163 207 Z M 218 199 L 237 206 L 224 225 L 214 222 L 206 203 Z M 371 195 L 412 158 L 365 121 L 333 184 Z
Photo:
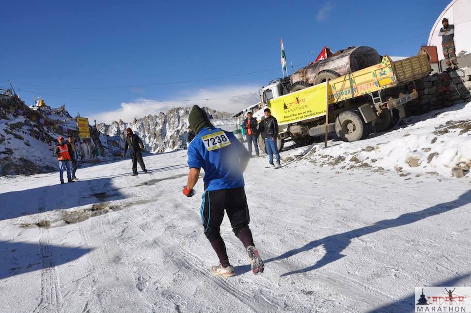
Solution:
M 249 229 L 249 207 L 244 187 L 206 191 L 201 204 L 201 219 L 204 235 L 218 254 L 220 264 L 228 266 L 229 258 L 226 246 L 220 235 L 220 226 L 224 211 L 231 222 L 234 234 L 242 241 L 244 247 L 253 246 L 252 233 Z

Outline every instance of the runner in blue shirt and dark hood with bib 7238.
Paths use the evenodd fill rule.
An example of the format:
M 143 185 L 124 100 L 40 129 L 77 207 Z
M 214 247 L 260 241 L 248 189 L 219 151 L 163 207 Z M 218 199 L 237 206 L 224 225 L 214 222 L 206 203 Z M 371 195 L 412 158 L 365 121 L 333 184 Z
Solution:
M 231 221 L 234 234 L 242 241 L 249 256 L 252 272 L 264 271 L 264 263 L 255 248 L 249 229 L 249 207 L 244 189 L 244 172 L 249 161 L 247 149 L 235 136 L 211 125 L 204 110 L 193 106 L 188 116 L 196 137 L 188 146 L 187 186 L 183 194 L 192 197 L 193 187 L 198 181 L 201 168 L 204 169 L 204 194 L 201 205 L 201 219 L 204 234 L 219 257 L 220 265 L 212 266 L 214 276 L 234 276 L 234 267 L 229 263 L 220 225 L 224 210 Z

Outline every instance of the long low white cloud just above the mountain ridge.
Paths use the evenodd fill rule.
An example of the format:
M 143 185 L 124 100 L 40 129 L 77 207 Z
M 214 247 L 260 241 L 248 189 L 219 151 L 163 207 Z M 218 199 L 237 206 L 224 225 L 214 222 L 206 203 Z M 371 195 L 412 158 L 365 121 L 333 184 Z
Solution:
M 116 110 L 91 114 L 90 120 L 96 120 L 97 123 L 110 123 L 120 119 L 125 122 L 131 122 L 134 117 L 139 118 L 149 114 L 157 115 L 160 112 L 167 112 L 172 108 L 190 107 L 195 104 L 213 110 L 236 113 L 260 101 L 260 96 L 258 95 L 260 87 L 231 85 L 200 89 L 187 94 L 176 92 L 175 94 L 181 94 L 181 96 L 166 99 L 165 101 L 139 98 L 132 102 L 122 102 L 120 108 Z M 191 101 L 185 101 L 186 99 Z

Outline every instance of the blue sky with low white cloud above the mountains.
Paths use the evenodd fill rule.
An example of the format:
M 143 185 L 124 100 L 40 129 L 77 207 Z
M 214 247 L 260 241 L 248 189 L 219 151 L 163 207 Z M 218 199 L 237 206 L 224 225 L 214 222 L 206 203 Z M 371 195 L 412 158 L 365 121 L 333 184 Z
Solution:
M 448 3 L 7 1 L 0 88 L 11 79 L 29 105 L 42 95 L 98 121 L 192 104 L 236 112 L 281 76 L 281 37 L 295 70 L 324 46 L 414 55 Z

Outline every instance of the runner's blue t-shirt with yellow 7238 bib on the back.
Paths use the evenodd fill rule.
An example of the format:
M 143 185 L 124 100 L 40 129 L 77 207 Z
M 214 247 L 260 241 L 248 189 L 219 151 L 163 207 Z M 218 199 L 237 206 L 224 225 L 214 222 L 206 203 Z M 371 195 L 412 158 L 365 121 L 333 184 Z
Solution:
M 239 188 L 245 185 L 240 158 L 248 154 L 234 134 L 205 127 L 188 146 L 188 166 L 204 169 L 206 191 Z

